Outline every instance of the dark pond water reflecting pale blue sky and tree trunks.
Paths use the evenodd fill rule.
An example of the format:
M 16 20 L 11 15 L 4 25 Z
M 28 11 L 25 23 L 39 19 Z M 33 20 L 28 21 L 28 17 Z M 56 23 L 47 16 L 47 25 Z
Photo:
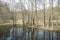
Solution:
M 47 31 L 33 28 L 11 28 L 7 37 L 0 40 L 60 40 L 60 31 Z

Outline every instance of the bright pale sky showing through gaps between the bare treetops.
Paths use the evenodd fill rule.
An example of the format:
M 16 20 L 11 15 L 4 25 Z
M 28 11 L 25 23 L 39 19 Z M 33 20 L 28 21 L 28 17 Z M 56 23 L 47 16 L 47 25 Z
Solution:
M 13 6 L 16 4 L 16 3 L 18 3 L 19 2 L 19 0 L 11 0 L 11 1 L 13 1 L 14 2 L 14 5 L 12 5 L 11 3 L 11 1 L 10 0 L 2 0 L 2 1 L 4 1 L 4 2 L 6 2 L 6 3 L 9 3 L 10 5 L 10 7 L 11 8 L 13 8 Z M 24 3 L 24 1 L 25 1 L 25 7 L 26 7 L 26 9 L 28 9 L 28 6 L 27 6 L 27 4 L 28 4 L 28 1 L 27 0 L 22 0 L 22 2 Z M 40 2 L 39 2 L 40 1 Z M 37 3 L 37 7 L 38 7 L 38 9 L 40 8 L 40 9 L 43 9 L 43 0 L 39 0 L 38 1 L 38 3 Z M 26 4 L 27 3 L 27 4 Z M 58 3 L 58 0 L 53 0 L 53 6 L 55 7 L 56 5 L 57 5 L 57 3 Z M 46 5 L 45 5 L 45 7 L 46 8 L 49 8 L 49 0 L 46 0 L 46 3 L 45 3 Z M 30 4 L 28 4 L 28 5 L 30 5 Z M 31 7 L 30 7 L 31 8 Z

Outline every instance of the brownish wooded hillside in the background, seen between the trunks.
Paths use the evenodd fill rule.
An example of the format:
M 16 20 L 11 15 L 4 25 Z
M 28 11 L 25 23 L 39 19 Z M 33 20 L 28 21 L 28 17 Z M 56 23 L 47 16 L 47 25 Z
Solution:
M 59 9 L 59 10 L 58 10 Z M 32 10 L 25 10 L 25 17 L 28 17 L 28 13 L 31 13 Z M 44 10 L 37 10 L 37 15 L 38 15 L 38 20 L 43 20 L 43 12 Z M 49 15 L 50 15 L 51 10 L 50 9 L 45 9 L 45 13 L 46 13 L 46 20 L 49 19 Z M 15 12 L 16 13 L 16 17 L 17 19 L 21 19 L 22 18 L 22 12 Z M 14 12 L 10 11 L 10 9 L 8 8 L 7 4 L 5 5 L 1 5 L 0 6 L 0 20 L 2 21 L 8 21 L 8 20 L 12 20 L 13 19 L 13 14 Z M 35 11 L 33 11 L 33 15 L 35 15 Z M 58 8 L 58 6 L 53 8 L 53 20 L 57 20 L 60 19 L 60 8 Z

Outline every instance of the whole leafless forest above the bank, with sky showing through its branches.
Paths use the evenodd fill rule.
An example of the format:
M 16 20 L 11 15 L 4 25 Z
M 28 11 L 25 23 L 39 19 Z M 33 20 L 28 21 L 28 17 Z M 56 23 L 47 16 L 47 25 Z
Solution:
M 54 0 L 19 0 L 14 4 L 0 0 L 0 23 L 60 25 L 60 2 Z M 48 5 L 49 4 L 49 5 Z M 56 5 L 55 5 L 56 4 Z M 13 6 L 12 6 L 13 5 Z

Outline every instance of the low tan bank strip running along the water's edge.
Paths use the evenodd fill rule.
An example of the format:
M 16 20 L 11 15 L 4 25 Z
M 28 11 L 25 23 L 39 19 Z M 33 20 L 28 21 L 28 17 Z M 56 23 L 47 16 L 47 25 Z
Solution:
M 11 28 L 13 26 L 13 23 L 5 23 L 5 24 L 0 24 L 0 29 L 2 28 Z M 1 28 L 2 27 L 2 28 Z M 9 28 L 8 28 L 9 27 Z M 21 24 L 16 24 L 15 27 L 28 27 L 28 28 L 36 28 L 36 29 L 42 29 L 42 30 L 50 30 L 50 31 L 60 31 L 60 26 L 28 26 L 28 25 L 21 25 Z

